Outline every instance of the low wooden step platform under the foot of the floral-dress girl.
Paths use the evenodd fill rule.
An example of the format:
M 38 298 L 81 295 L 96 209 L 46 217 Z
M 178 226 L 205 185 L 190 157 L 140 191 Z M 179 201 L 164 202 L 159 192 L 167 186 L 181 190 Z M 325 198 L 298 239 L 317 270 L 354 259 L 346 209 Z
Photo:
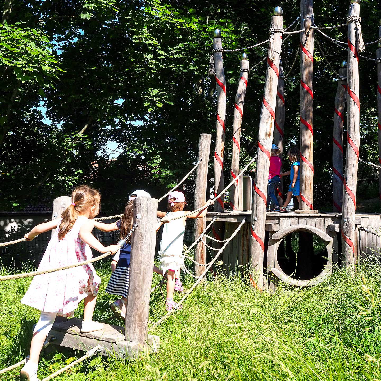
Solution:
M 53 335 L 56 340 L 54 345 L 67 348 L 80 349 L 88 351 L 100 344 L 103 349 L 103 355 L 112 355 L 119 358 L 137 357 L 142 351 L 138 343 L 125 340 L 124 328 L 116 325 L 104 324 L 100 331 L 81 333 L 81 319 L 68 319 L 66 322 L 54 323 L 49 335 Z M 149 352 L 157 352 L 160 345 L 158 336 L 148 335 L 146 348 Z

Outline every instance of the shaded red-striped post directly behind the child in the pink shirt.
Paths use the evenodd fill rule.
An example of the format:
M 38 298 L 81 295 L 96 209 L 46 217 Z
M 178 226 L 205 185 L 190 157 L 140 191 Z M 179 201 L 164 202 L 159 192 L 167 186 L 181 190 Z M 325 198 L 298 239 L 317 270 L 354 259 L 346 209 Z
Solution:
M 277 106 L 275 107 L 275 126 L 274 126 L 274 144 L 276 144 L 280 150 L 280 158 L 283 154 L 283 135 L 285 128 L 285 80 L 282 78 L 283 67 L 279 67 L 278 78 L 278 90 L 277 90 Z M 282 171 L 282 169 L 281 169 Z M 280 179 L 279 186 L 277 188 L 277 199 L 279 205 L 283 205 L 283 179 Z

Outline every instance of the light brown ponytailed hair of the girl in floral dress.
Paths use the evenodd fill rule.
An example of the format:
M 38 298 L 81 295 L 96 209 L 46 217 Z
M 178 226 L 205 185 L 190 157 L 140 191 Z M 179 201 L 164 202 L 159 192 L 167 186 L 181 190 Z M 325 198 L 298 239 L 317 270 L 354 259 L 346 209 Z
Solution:
M 72 193 L 72 203 L 62 213 L 62 221 L 59 224 L 58 239 L 65 237 L 70 232 L 78 216 L 86 213 L 94 205 L 99 205 L 101 195 L 96 189 L 87 185 L 80 185 Z

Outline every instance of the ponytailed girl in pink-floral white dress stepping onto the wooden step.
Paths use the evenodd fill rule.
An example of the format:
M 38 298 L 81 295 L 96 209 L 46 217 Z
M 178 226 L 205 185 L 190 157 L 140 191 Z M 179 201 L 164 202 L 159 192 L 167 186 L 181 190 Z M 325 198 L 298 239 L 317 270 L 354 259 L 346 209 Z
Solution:
M 99 192 L 86 185 L 77 187 L 72 194 L 72 203 L 62 213 L 61 219 L 35 226 L 25 235 L 30 241 L 38 234 L 56 229 L 38 270 L 67 266 L 92 258 L 90 247 L 101 253 L 118 250 L 116 245 L 105 247 L 91 231 L 92 219 L 99 213 Z M 101 279 L 91 264 L 73 269 L 37 275 L 21 300 L 22 304 L 41 311 L 30 344 L 29 360 L 21 369 L 20 376 L 28 381 L 37 381 L 38 357 L 47 334 L 56 316 L 71 317 L 78 303 L 84 299 L 82 332 L 98 331 L 103 325 L 93 322 L 93 312 Z

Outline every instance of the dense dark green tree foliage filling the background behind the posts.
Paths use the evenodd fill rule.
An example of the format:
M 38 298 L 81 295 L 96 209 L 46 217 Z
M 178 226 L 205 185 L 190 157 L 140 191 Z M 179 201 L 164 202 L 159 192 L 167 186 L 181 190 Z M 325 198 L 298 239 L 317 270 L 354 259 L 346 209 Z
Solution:
M 110 212 L 119 210 L 135 187 L 147 189 L 154 196 L 165 193 L 194 165 L 199 134 L 211 133 L 213 139 L 215 136 L 215 82 L 207 75 L 213 30 L 221 29 L 224 48 L 235 49 L 266 40 L 275 5 L 278 4 L 274 1 L 264 0 L 219 3 L 45 0 L 28 4 L 7 0 L 2 33 L 6 45 L 16 50 L 0 45 L 2 208 L 45 200 L 50 203 L 53 197 L 67 194 L 73 185 L 83 182 L 101 189 L 104 209 Z M 285 26 L 290 25 L 299 14 L 299 2 L 287 0 L 280 5 Z M 345 21 L 347 6 L 338 0 L 315 3 L 316 24 Z M 361 13 L 365 42 L 376 40 L 379 18 L 376 0 L 363 0 Z M 12 33 L 16 33 L 15 38 L 11 38 Z M 339 40 L 346 38 L 346 28 L 327 33 Z M 338 70 L 340 62 L 346 59 L 346 51 L 320 35 L 317 38 Z M 285 72 L 298 45 L 299 36 L 295 35 L 282 46 Z M 367 46 L 365 54 L 375 57 L 375 48 L 376 45 Z M 267 46 L 247 53 L 253 66 L 266 56 Z M 239 56 L 240 53 L 224 54 L 226 181 L 230 172 Z M 7 65 L 10 61 L 15 62 Z M 19 69 L 21 61 L 32 70 L 24 73 Z M 286 147 L 298 144 L 298 63 L 299 59 L 286 82 Z M 256 150 L 264 75 L 265 64 L 249 75 L 242 123 L 242 164 Z M 23 80 L 26 76 L 29 79 Z M 375 88 L 374 62 L 361 60 L 360 156 L 373 162 L 378 156 Z M 316 46 L 317 207 L 330 204 L 335 92 L 336 75 Z M 41 105 L 51 122 L 46 123 Z M 112 160 L 104 147 L 108 141 L 117 142 L 120 152 Z M 184 186 L 191 199 L 192 182 L 191 179 Z

